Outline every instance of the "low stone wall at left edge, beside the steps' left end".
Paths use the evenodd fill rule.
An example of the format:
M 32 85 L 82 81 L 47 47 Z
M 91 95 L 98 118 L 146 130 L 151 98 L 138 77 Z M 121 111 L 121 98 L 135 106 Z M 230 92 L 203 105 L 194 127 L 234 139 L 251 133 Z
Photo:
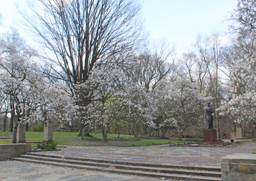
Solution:
M 19 154 L 30 151 L 30 144 L 0 144 L 0 161 L 10 160 Z

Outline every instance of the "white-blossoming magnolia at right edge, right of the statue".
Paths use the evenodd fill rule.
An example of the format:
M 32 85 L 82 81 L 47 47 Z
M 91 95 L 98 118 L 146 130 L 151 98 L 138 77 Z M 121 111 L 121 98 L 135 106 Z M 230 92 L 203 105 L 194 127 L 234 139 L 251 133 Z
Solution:
M 237 62 L 231 72 L 230 94 L 222 101 L 221 114 L 231 114 L 235 122 L 255 121 L 256 57 L 247 56 Z

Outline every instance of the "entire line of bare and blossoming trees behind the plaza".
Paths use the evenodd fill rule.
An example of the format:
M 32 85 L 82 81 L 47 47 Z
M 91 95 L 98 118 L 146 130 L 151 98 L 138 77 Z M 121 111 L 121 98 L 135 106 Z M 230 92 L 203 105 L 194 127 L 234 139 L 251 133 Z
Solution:
M 0 39 L 1 114 L 15 118 L 13 143 L 18 123 L 49 120 L 75 125 L 79 135 L 99 130 L 105 142 L 113 127 L 200 137 L 208 101 L 218 138 L 237 124 L 254 129 L 254 1 L 238 1 L 226 36 L 198 35 L 179 57 L 167 40 L 148 40 L 136 0 L 28 7 L 30 14 L 19 11 L 22 27 L 38 46 L 16 29 Z

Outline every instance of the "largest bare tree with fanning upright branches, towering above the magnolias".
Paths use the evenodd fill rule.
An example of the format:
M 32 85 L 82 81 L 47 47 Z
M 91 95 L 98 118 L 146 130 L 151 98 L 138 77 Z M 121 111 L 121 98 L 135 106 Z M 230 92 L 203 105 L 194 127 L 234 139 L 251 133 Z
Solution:
M 37 0 L 28 5 L 34 16 L 20 12 L 25 29 L 40 38 L 48 74 L 65 81 L 72 96 L 79 94 L 75 84 L 87 81 L 95 69 L 121 65 L 144 39 L 137 0 Z M 86 107 L 92 99 L 84 97 L 79 104 Z

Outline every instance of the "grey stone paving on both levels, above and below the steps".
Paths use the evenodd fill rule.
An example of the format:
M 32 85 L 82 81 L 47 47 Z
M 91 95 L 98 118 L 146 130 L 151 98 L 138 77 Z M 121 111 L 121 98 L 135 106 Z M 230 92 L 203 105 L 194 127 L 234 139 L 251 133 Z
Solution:
M 64 146 L 64 145 L 62 145 Z M 113 146 L 70 146 L 61 151 L 39 152 L 105 160 L 160 163 L 173 165 L 220 167 L 221 158 L 232 153 L 251 153 L 256 143 L 245 143 L 233 148 L 209 147 L 166 147 L 166 145 L 141 147 Z M 131 175 L 110 174 L 62 168 L 49 165 L 23 163 L 17 161 L 0 162 L 0 180 L 163 180 Z

